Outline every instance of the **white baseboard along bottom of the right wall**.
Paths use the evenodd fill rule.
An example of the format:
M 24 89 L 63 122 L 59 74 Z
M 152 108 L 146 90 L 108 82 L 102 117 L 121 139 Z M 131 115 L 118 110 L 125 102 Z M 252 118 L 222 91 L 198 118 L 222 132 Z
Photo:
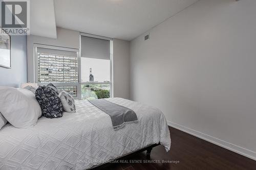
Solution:
M 199 138 L 204 139 L 204 140 L 206 140 L 208 142 L 217 144 L 220 147 L 223 147 L 223 148 L 228 149 L 230 151 L 236 152 L 236 153 L 238 153 L 240 155 L 243 155 L 243 156 L 246 156 L 246 157 L 248 157 L 250 159 L 256 160 L 256 152 L 253 152 L 253 151 L 250 151 L 248 149 L 239 147 L 238 145 L 226 142 L 226 141 L 218 139 L 216 137 L 213 137 L 213 136 L 210 136 L 210 135 L 206 135 L 206 134 L 198 132 L 196 130 L 193 130 L 193 129 L 190 129 L 190 128 L 187 128 L 187 127 L 184 127 L 184 126 L 181 126 L 181 125 L 178 125 L 178 124 L 175 124 L 175 123 L 170 122 L 168 120 L 167 120 L 167 124 L 170 127 L 179 129 L 179 130 L 181 130 L 183 132 L 186 132 L 186 133 L 188 133 L 190 135 L 199 137 Z

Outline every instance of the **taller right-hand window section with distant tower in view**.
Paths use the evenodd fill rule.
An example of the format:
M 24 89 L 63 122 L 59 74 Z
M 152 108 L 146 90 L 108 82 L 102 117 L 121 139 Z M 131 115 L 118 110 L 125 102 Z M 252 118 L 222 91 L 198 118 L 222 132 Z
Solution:
M 81 36 L 81 99 L 111 97 L 111 42 Z

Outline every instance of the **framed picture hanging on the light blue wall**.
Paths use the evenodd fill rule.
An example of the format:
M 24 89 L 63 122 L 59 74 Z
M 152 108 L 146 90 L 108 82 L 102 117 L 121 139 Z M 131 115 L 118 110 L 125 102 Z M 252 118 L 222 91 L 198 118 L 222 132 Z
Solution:
M 0 31 L 0 66 L 11 68 L 11 37 Z

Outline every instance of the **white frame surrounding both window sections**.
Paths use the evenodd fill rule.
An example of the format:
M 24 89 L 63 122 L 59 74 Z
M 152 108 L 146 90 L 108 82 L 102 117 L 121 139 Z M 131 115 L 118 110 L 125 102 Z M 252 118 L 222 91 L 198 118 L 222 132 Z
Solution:
M 110 82 L 82 82 L 81 81 L 81 36 L 88 36 L 93 38 L 106 39 L 110 41 Z M 110 97 L 112 98 L 113 92 L 113 38 L 101 37 L 97 35 L 91 35 L 86 33 L 80 33 L 80 48 L 69 48 L 69 47 L 61 47 L 54 45 L 46 45 L 46 44 L 38 44 L 34 43 L 34 80 L 38 85 L 47 85 L 49 83 L 38 83 L 38 65 L 37 65 L 37 48 L 49 48 L 53 50 L 63 50 L 63 51 L 71 51 L 77 53 L 77 65 L 78 65 L 78 81 L 76 83 L 53 83 L 56 86 L 76 86 L 77 97 L 76 99 L 81 100 L 81 86 L 84 84 L 110 84 Z

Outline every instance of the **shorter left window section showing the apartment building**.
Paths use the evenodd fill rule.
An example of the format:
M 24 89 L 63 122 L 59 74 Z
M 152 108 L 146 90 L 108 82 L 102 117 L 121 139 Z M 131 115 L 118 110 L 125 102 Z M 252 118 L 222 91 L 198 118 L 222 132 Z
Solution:
M 35 44 L 36 82 L 53 83 L 78 97 L 78 50 Z

